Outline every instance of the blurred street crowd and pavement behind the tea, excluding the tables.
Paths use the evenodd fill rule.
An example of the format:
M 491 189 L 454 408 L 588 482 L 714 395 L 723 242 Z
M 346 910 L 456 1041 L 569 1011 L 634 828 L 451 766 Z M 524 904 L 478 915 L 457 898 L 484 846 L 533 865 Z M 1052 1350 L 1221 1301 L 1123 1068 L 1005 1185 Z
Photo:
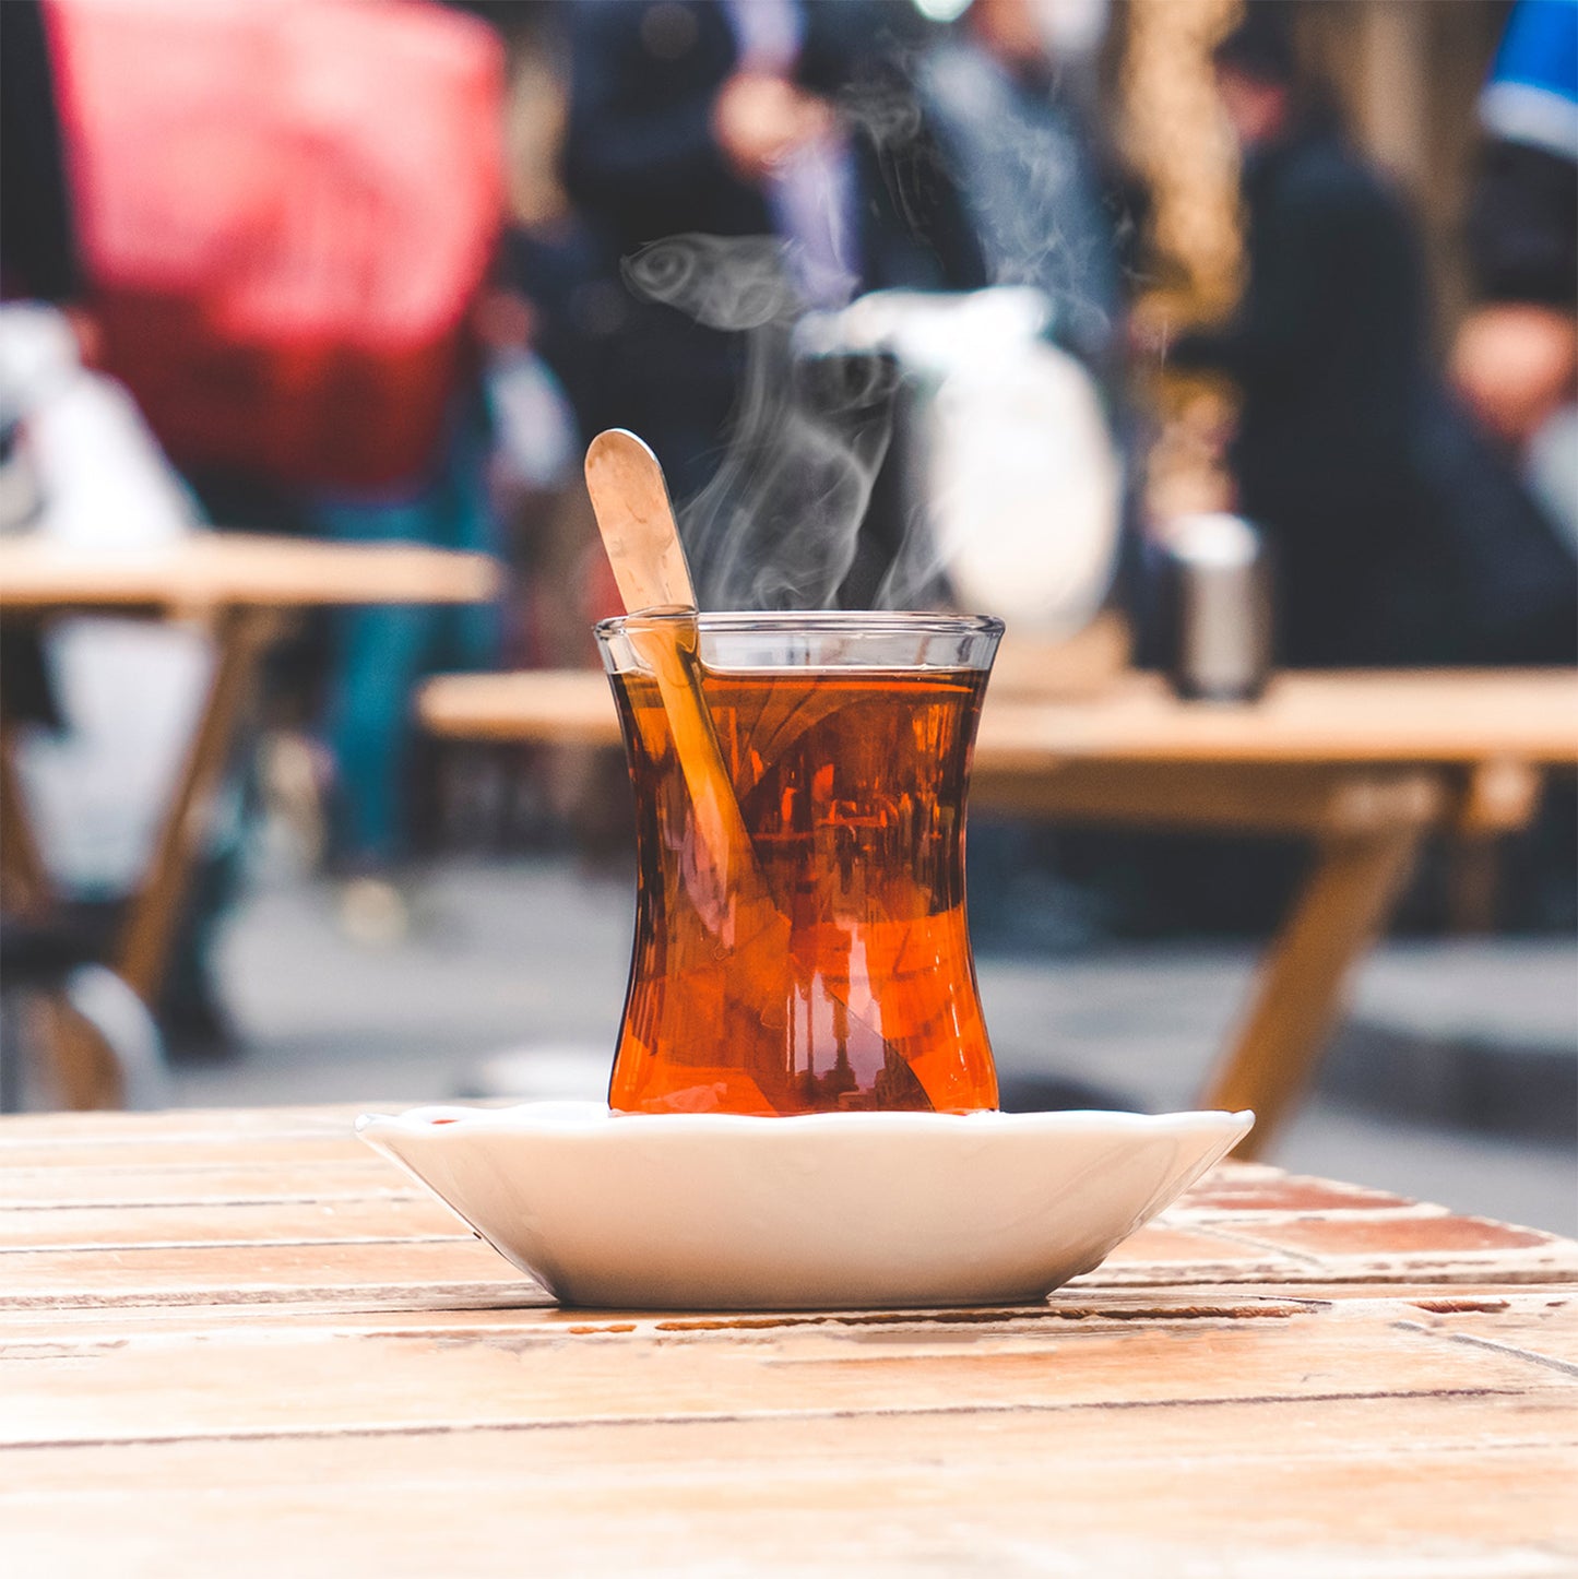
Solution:
M 1000 613 L 1050 696 L 1189 688 L 1172 594 L 1224 518 L 1270 576 L 1224 616 L 1243 706 L 1262 613 L 1278 668 L 1578 660 L 1575 0 L 5 0 L 0 27 L 6 537 L 505 572 L 491 606 L 275 643 L 136 1101 L 597 1094 L 622 758 L 438 741 L 412 696 L 597 663 L 605 426 L 662 459 L 703 606 Z M 0 641 L 60 895 L 41 954 L 8 894 L 3 1097 L 125 1099 L 47 1044 L 212 647 Z M 1575 823 L 1557 771 L 1493 848 L 1430 842 L 1270 1161 L 1578 1232 Z M 1005 1102 L 1188 1104 L 1306 861 L 973 820 Z

